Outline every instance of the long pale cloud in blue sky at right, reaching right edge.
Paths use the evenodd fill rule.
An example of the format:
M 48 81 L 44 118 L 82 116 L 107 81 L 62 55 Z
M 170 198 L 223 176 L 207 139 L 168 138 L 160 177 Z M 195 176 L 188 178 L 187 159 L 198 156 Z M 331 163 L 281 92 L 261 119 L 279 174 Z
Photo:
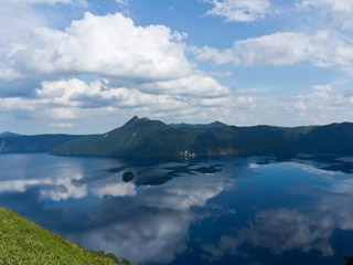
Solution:
M 353 72 L 353 45 L 319 31 L 314 35 L 278 32 L 259 38 L 235 41 L 232 49 L 220 51 L 205 46 L 194 49 L 201 61 L 239 66 L 291 65 L 310 63 L 319 67 L 341 67 Z

